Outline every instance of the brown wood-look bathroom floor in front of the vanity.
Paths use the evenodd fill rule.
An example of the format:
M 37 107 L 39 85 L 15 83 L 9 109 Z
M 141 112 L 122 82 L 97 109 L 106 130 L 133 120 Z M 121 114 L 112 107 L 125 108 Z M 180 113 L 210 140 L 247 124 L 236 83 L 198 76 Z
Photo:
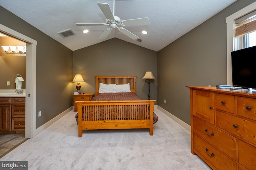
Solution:
M 0 158 L 26 140 L 25 134 L 0 134 Z

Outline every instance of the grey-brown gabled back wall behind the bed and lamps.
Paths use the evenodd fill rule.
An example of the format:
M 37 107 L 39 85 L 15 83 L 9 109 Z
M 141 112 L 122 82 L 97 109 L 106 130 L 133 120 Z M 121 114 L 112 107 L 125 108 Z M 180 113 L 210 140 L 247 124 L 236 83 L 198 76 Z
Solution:
M 148 100 L 148 81 L 142 77 L 152 71 L 156 79 L 150 81 L 150 99 L 157 99 L 156 51 L 113 38 L 74 51 L 73 68 L 73 76 L 82 74 L 84 78 L 80 92 L 85 93 L 96 92 L 94 76 L 137 76 L 136 94 L 142 100 Z

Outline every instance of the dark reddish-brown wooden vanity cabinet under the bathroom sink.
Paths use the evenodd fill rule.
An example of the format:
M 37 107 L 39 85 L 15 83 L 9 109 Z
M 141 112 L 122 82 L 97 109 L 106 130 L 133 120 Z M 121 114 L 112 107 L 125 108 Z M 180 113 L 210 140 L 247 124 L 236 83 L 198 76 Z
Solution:
M 25 97 L 0 97 L 0 133 L 25 133 Z

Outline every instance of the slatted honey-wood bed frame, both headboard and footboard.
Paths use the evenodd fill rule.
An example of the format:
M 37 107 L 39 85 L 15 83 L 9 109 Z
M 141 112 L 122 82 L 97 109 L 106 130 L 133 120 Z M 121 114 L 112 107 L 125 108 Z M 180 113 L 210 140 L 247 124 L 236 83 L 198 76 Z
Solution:
M 135 93 L 136 76 L 95 76 L 96 95 L 99 93 L 99 84 L 127 84 L 130 83 L 131 92 Z M 82 137 L 82 130 L 93 129 L 149 129 L 150 135 L 153 135 L 153 111 L 156 100 L 134 100 L 134 101 L 76 101 L 78 104 L 78 137 Z M 124 108 L 130 109 L 125 114 L 120 113 Z M 111 108 L 118 113 L 109 114 L 106 119 L 102 109 L 100 115 L 95 115 L 92 108 Z M 128 109 L 126 109 L 128 110 Z M 136 112 L 136 113 L 135 113 Z M 150 118 L 147 113 L 149 112 Z M 89 118 L 82 120 L 82 115 L 87 113 Z M 123 114 L 123 115 L 122 115 Z M 139 116 L 134 119 L 134 115 Z M 100 117 L 100 118 L 99 118 Z M 120 118 L 121 117 L 121 118 Z M 86 120 L 87 119 L 87 120 Z M 95 119 L 95 120 L 94 120 Z M 108 120 L 110 119 L 110 120 Z

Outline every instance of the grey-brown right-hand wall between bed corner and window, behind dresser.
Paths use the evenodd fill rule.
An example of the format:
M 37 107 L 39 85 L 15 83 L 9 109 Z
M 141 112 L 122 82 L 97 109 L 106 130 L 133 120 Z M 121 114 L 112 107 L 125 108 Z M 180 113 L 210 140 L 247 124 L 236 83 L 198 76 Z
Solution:
M 226 17 L 253 2 L 238 0 L 158 51 L 158 106 L 190 125 L 190 93 L 185 86 L 227 83 Z

